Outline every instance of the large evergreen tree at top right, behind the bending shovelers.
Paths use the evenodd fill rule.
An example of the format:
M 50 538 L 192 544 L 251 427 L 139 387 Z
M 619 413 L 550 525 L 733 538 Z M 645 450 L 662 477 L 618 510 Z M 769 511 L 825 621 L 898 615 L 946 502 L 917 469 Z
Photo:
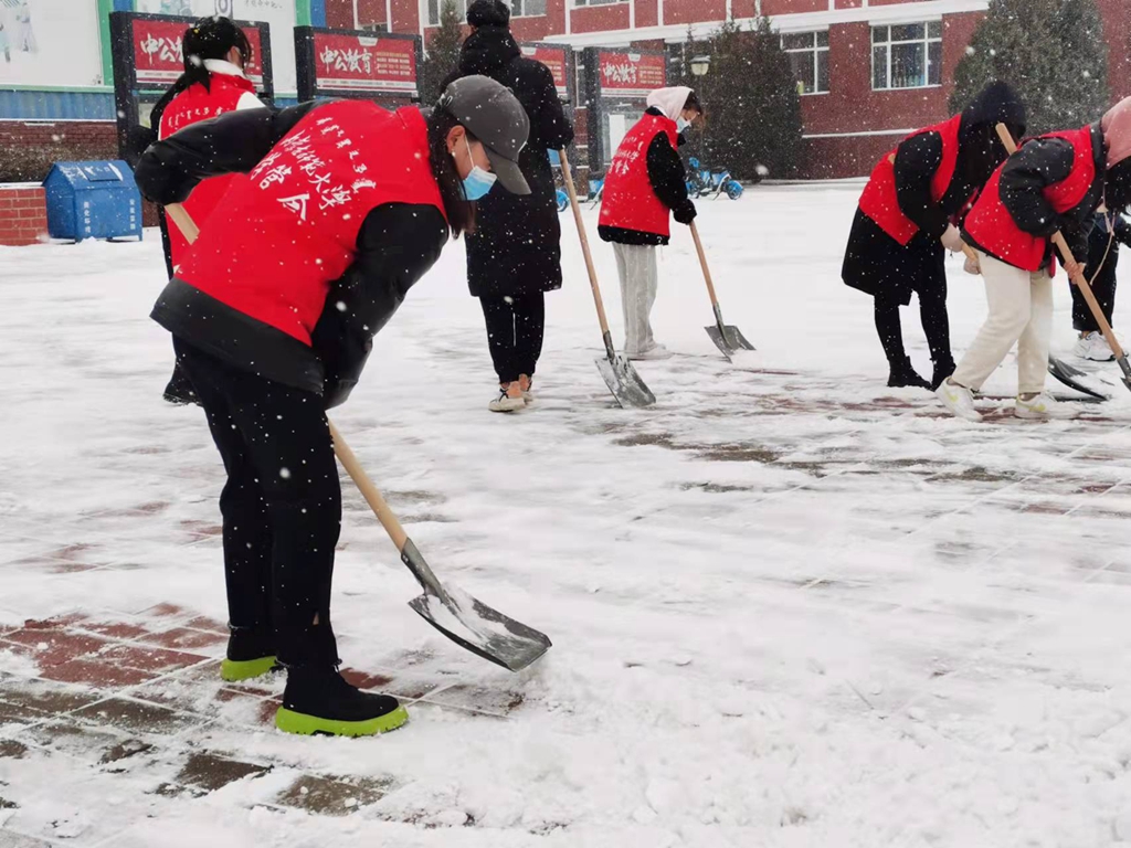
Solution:
M 1095 0 L 990 0 L 955 69 L 950 106 L 965 107 L 993 80 L 1028 107 L 1029 135 L 1072 129 L 1107 107 L 1107 47 Z

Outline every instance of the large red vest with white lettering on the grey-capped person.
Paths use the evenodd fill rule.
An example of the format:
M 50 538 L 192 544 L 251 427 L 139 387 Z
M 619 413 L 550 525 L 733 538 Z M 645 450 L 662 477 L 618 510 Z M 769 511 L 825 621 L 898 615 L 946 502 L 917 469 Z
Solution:
M 235 178 L 176 276 L 309 345 L 365 216 L 383 204 L 443 214 L 420 110 L 318 106 Z

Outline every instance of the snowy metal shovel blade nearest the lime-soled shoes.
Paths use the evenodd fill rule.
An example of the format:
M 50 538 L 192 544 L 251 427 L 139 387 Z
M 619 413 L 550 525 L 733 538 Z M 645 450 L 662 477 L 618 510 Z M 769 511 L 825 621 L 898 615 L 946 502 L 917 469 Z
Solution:
M 483 659 L 520 672 L 550 650 L 545 633 L 510 618 L 472 596 L 447 587 L 448 604 L 425 592 L 408 602 L 429 624 Z

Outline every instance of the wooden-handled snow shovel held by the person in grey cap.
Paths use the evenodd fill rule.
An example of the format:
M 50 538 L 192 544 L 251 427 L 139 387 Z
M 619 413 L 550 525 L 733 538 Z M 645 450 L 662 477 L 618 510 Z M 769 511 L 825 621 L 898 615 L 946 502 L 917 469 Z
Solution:
M 165 207 L 165 211 L 190 244 L 197 240 L 200 231 L 184 207 L 170 204 Z M 552 642 L 544 633 L 507 617 L 463 591 L 444 588 L 416 545 L 408 538 L 405 528 L 400 526 L 400 521 L 389 509 L 377 486 L 357 462 L 357 458 L 349 450 L 338 429 L 333 422 L 328 423 L 338 461 L 373 509 L 392 544 L 397 546 L 400 561 L 408 566 L 413 577 L 424 588 L 424 594 L 409 600 L 408 606 L 456 644 L 511 672 L 526 668 L 545 654 Z

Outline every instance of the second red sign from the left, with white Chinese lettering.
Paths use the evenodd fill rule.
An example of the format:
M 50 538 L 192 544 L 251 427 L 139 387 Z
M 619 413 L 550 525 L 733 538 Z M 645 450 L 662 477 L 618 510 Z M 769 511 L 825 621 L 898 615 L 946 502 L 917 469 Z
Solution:
M 318 90 L 416 93 L 416 42 L 314 31 Z

